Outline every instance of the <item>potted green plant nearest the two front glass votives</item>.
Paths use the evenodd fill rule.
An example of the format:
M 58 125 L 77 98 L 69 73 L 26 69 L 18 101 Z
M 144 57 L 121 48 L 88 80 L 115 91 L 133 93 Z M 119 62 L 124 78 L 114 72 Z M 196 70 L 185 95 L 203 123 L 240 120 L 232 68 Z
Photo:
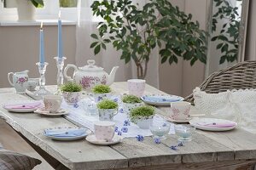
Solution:
M 154 114 L 154 107 L 145 105 L 132 109 L 129 116 L 131 122 L 136 123 L 138 127 L 148 129 L 153 122 Z

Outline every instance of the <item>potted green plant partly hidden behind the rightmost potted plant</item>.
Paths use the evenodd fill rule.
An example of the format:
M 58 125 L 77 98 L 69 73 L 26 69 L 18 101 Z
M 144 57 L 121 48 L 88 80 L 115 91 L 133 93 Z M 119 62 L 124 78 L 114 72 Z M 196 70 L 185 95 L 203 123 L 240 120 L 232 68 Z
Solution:
M 143 101 L 135 95 L 125 95 L 122 98 L 122 108 L 125 113 L 129 113 L 132 109 L 143 106 Z

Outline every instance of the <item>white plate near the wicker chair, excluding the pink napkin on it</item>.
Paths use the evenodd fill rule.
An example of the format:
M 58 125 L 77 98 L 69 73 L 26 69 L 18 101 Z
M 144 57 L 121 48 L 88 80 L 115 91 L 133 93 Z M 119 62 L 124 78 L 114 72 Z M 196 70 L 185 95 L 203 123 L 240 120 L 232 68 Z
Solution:
M 211 124 L 211 123 L 235 123 L 235 126 L 232 127 L 207 127 L 204 125 L 199 125 L 198 123 L 207 123 L 207 124 Z M 207 131 L 228 131 L 228 130 L 232 130 L 234 128 L 236 128 L 237 123 L 233 122 L 233 121 L 229 121 L 229 120 L 224 120 L 224 119 L 215 119 L 215 118 L 194 118 L 191 121 L 189 121 L 190 125 L 201 129 L 201 130 L 207 130 Z

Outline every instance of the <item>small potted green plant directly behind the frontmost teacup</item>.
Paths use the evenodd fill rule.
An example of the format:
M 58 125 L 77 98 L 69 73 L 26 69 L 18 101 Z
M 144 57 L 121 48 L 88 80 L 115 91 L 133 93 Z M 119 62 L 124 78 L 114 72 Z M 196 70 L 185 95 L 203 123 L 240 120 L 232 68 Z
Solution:
M 103 99 L 97 104 L 100 121 L 113 121 L 118 112 L 118 104 L 110 99 Z

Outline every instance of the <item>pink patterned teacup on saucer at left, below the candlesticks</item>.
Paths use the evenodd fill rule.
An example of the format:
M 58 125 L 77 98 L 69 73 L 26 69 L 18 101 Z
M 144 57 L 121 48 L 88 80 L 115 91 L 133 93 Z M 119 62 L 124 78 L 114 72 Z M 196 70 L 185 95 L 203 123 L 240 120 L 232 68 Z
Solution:
M 44 96 L 45 111 L 58 112 L 61 109 L 61 103 L 62 97 L 60 95 L 49 94 Z

